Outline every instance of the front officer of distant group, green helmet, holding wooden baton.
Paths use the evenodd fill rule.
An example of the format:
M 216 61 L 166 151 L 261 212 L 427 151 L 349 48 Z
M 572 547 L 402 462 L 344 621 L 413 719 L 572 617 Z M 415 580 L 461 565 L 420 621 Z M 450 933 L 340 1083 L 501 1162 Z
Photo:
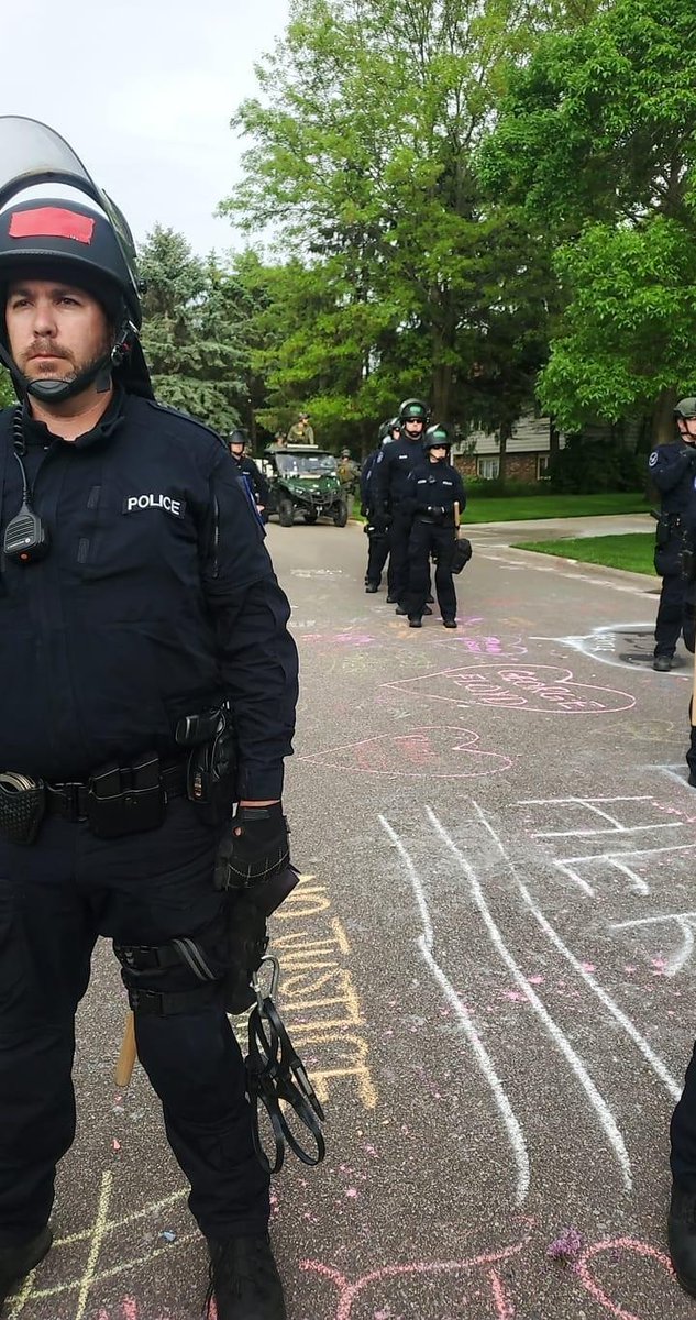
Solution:
M 446 628 L 456 628 L 456 593 L 452 581 L 459 515 L 467 503 L 464 483 L 450 463 L 452 446 L 448 426 L 428 426 L 426 459 L 407 480 L 405 506 L 413 516 L 409 536 L 409 583 L 405 607 L 409 626 L 419 628 L 430 591 L 430 560 L 435 558 L 435 591 Z

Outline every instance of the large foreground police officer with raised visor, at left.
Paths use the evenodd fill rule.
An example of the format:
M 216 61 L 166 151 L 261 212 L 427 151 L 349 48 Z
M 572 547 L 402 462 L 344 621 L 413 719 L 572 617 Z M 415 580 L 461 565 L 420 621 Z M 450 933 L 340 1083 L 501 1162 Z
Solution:
M 154 401 L 125 220 L 46 125 L 0 119 L 8 160 L 0 358 L 20 403 L 0 413 L 0 1308 L 51 1245 L 74 1016 L 102 935 L 207 1238 L 211 1304 L 219 1320 L 283 1320 L 225 1007 L 250 1002 L 264 946 L 240 894 L 289 857 L 290 611 L 225 446 Z M 90 205 L 20 198 L 47 178 Z

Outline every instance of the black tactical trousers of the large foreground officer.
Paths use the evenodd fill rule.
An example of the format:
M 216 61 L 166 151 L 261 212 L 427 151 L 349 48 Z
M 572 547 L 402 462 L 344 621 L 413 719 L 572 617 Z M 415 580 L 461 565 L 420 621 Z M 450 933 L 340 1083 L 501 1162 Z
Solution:
M 55 1164 L 75 1133 L 74 1018 L 98 936 L 160 945 L 210 927 L 220 908 L 216 846 L 218 832 L 186 799 L 170 801 L 165 824 L 145 834 L 104 841 L 51 816 L 33 846 L 0 842 L 0 1246 L 33 1237 L 51 1210 Z M 190 991 L 198 982 L 175 968 L 144 975 L 142 986 Z M 220 998 L 202 995 L 182 1014 L 136 1012 L 136 1038 L 202 1232 L 264 1233 L 269 1180 Z

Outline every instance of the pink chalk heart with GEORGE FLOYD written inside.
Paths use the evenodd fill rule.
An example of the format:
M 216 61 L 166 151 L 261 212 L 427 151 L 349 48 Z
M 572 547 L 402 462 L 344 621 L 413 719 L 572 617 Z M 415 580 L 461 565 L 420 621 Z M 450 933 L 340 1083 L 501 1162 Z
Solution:
M 385 688 L 455 706 L 489 706 L 558 715 L 598 715 L 630 710 L 635 697 L 616 688 L 575 682 L 572 669 L 546 664 L 484 664 L 398 678 Z

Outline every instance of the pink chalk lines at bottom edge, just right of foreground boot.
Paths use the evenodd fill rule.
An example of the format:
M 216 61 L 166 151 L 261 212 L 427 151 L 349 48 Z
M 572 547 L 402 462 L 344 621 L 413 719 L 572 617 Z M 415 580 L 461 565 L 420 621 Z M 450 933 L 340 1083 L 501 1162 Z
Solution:
M 331 1265 L 322 1265 L 320 1261 L 301 1261 L 301 1270 L 307 1270 L 312 1274 L 318 1274 L 322 1279 L 330 1279 L 337 1290 L 337 1305 L 336 1312 L 331 1320 L 355 1320 L 353 1316 L 353 1303 L 356 1298 L 368 1288 L 377 1286 L 378 1288 L 389 1287 L 390 1279 L 398 1278 L 411 1278 L 417 1284 L 418 1280 L 438 1274 L 471 1274 L 473 1270 L 482 1271 L 486 1266 L 490 1270 L 486 1271 L 486 1282 L 490 1290 L 490 1303 L 492 1308 L 489 1315 L 494 1320 L 514 1320 L 515 1309 L 509 1299 L 502 1279 L 494 1269 L 504 1261 L 511 1259 L 511 1257 L 518 1255 L 525 1247 L 529 1238 L 523 1238 L 521 1242 L 515 1242 L 513 1246 L 502 1247 L 500 1251 L 488 1251 L 481 1255 L 471 1257 L 468 1261 L 430 1261 L 420 1262 L 417 1265 L 384 1265 L 378 1270 L 372 1270 L 369 1274 L 364 1274 L 355 1283 L 349 1283 L 340 1270 L 334 1269 Z M 380 1296 L 376 1303 L 373 1303 L 373 1313 L 380 1313 L 380 1303 L 384 1299 Z M 385 1313 L 382 1308 L 382 1315 Z M 386 1311 L 389 1315 L 389 1309 Z M 327 1316 L 328 1320 L 328 1316 Z

